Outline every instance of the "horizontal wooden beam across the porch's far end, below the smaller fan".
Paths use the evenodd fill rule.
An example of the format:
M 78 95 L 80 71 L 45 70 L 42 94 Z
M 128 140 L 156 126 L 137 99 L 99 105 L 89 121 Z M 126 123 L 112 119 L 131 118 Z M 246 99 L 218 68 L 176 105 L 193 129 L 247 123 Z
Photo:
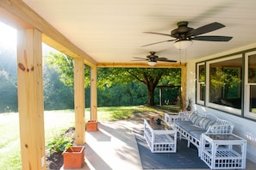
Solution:
M 147 63 L 98 63 L 97 67 L 139 67 L 139 68 L 181 68 L 185 64 L 178 63 L 157 63 L 155 66 L 149 66 Z

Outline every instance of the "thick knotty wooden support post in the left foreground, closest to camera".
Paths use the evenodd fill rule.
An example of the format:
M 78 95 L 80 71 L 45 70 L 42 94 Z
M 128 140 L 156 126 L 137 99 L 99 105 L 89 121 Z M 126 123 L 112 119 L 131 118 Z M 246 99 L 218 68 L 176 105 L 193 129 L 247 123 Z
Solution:
M 17 35 L 22 169 L 46 169 L 41 33 L 26 29 Z

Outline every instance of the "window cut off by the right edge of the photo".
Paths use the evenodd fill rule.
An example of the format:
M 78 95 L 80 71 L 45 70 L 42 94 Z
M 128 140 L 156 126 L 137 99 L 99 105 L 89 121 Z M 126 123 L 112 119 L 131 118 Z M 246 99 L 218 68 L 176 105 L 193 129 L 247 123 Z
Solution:
M 256 52 L 246 55 L 245 116 L 256 118 Z

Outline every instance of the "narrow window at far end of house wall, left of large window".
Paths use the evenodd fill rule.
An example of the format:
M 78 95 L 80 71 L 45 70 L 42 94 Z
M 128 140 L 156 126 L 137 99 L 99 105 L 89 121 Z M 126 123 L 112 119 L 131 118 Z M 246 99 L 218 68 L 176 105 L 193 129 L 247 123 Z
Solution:
M 205 98 L 205 65 L 197 64 L 197 103 L 203 105 Z

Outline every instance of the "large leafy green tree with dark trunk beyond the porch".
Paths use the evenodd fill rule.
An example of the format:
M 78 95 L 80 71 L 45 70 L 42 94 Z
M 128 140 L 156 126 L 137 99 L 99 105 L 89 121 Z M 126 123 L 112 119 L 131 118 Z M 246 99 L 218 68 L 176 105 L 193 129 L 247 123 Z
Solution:
M 72 58 L 62 53 L 50 53 L 47 56 L 47 64 L 54 67 L 60 74 L 60 81 L 66 85 L 73 84 Z M 129 82 L 141 82 L 147 87 L 148 104 L 155 105 L 154 89 L 158 85 L 180 85 L 180 69 L 159 68 L 98 68 L 97 88 L 109 88 L 114 84 Z M 90 68 L 84 69 L 84 87 L 90 85 Z

